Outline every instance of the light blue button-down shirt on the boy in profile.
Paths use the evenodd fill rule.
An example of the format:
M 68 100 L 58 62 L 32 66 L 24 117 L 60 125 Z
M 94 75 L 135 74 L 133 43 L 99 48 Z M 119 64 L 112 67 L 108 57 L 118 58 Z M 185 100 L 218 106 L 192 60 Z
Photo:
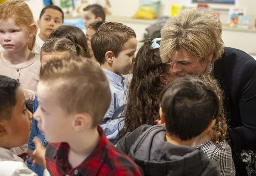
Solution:
M 111 104 L 104 115 L 101 127 L 105 131 L 107 139 L 116 143 L 119 137 L 119 131 L 123 128 L 124 109 L 126 106 L 126 86 L 124 77 L 117 75 L 109 70 L 105 72 L 111 91 Z

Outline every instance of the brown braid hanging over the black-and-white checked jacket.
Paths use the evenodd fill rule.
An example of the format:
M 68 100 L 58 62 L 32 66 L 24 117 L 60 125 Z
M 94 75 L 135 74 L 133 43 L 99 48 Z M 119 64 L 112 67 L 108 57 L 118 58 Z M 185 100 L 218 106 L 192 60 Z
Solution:
M 223 108 L 223 93 L 222 90 L 219 88 L 219 83 L 212 78 L 211 76 L 207 75 L 200 75 L 200 79 L 202 79 L 204 82 L 206 82 L 213 90 L 213 92 L 216 94 L 218 99 L 218 105 L 219 105 L 219 111 L 216 115 L 216 123 L 213 126 L 213 135 L 211 136 L 211 140 L 218 144 L 225 140 L 227 128 L 228 125 L 226 124 L 226 118 L 225 118 L 225 111 Z

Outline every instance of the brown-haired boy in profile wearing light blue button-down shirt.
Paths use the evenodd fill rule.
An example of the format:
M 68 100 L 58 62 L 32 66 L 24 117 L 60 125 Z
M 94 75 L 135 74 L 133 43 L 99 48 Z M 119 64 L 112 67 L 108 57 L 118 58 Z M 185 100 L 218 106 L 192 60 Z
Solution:
M 104 70 L 110 90 L 111 104 L 101 127 L 113 144 L 117 143 L 119 131 L 123 127 L 126 106 L 126 85 L 123 75 L 130 73 L 134 53 L 137 48 L 134 30 L 117 22 L 102 24 L 91 41 L 95 58 Z

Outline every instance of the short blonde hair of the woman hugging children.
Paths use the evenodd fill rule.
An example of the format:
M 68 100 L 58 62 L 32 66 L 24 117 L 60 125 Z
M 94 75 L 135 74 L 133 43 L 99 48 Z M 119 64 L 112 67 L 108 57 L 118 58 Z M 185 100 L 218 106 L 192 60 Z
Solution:
M 184 49 L 200 62 L 206 61 L 213 53 L 214 62 L 224 52 L 221 33 L 222 24 L 213 10 L 185 9 L 179 15 L 170 18 L 161 29 L 162 61 L 168 62 L 170 54 L 177 54 L 180 49 Z

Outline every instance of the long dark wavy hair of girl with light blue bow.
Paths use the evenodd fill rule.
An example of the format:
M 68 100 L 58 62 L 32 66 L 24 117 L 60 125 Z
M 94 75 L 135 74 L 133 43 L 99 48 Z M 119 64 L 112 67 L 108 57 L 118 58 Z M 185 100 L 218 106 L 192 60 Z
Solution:
M 157 44 L 159 44 L 157 42 Z M 152 39 L 146 39 L 133 64 L 133 78 L 129 84 L 125 115 L 125 133 L 142 124 L 154 125 L 159 119 L 159 97 L 164 88 L 160 75 L 167 73 L 159 48 L 152 48 Z

